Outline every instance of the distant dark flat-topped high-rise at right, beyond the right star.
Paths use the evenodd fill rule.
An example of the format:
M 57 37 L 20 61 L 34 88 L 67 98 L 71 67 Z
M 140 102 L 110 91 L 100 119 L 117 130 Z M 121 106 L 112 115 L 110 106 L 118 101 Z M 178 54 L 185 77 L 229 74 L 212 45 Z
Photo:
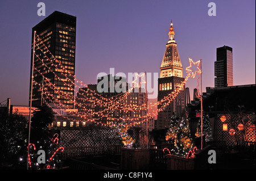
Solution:
M 233 86 L 233 52 L 228 46 L 217 48 L 217 60 L 214 62 L 214 86 Z

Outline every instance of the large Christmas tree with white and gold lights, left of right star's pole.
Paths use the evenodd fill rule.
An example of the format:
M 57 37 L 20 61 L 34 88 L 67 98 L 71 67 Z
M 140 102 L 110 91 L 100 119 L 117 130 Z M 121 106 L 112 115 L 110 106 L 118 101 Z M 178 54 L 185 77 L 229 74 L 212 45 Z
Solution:
M 174 142 L 174 154 L 187 157 L 193 144 L 190 135 L 188 118 L 185 113 L 181 117 L 172 116 L 171 125 L 166 133 L 166 140 Z

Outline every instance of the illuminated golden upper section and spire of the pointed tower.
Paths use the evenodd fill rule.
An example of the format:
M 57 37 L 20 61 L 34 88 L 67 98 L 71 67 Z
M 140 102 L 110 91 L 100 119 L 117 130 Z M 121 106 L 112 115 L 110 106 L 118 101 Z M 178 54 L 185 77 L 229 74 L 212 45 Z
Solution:
M 173 24 L 171 21 L 171 27 L 168 33 L 169 40 L 166 44 L 166 52 L 164 52 L 164 57 L 160 66 L 160 78 L 171 76 L 183 77 L 183 67 L 177 50 L 177 43 L 174 39 L 174 27 L 172 26 Z

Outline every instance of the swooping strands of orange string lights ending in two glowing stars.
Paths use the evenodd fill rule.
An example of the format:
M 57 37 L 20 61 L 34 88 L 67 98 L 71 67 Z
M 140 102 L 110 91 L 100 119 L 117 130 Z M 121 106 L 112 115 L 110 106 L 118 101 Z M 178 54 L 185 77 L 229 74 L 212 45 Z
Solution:
M 38 35 L 36 35 L 36 36 L 38 36 Z M 147 117 L 154 117 L 154 116 L 156 116 L 158 112 L 163 111 L 163 110 L 170 104 L 170 102 L 177 96 L 177 94 L 179 94 L 179 92 L 180 92 L 180 90 L 181 90 L 181 87 L 183 87 L 183 86 L 185 85 L 185 82 L 187 81 L 187 79 L 188 79 L 189 77 L 195 78 L 196 73 L 201 74 L 201 70 L 199 69 L 200 61 L 193 62 L 192 59 L 189 58 L 189 63 L 190 63 L 190 65 L 189 65 L 188 68 L 186 68 L 186 70 L 187 70 L 187 72 L 188 72 L 187 77 L 184 79 L 183 82 L 181 82 L 181 84 L 180 84 L 179 86 L 177 86 L 177 88 L 176 88 L 174 91 L 172 91 L 170 94 L 168 94 L 167 96 L 165 96 L 162 100 L 159 100 L 158 102 L 156 102 L 156 103 L 154 103 L 154 104 L 150 104 L 150 106 L 148 106 L 147 104 L 143 104 L 143 105 L 140 105 L 140 106 L 134 106 L 134 105 L 132 105 L 132 104 L 124 104 L 124 103 L 122 103 L 122 100 L 125 100 L 125 99 L 127 98 L 127 95 L 130 94 L 130 91 L 123 92 L 123 95 L 125 95 L 125 96 L 119 96 L 119 98 L 118 98 L 117 100 L 113 100 L 113 97 L 114 97 L 114 96 L 113 96 L 112 98 L 110 98 L 110 99 L 104 98 L 104 97 L 101 96 L 100 94 L 97 94 L 97 93 L 94 92 L 93 90 L 90 90 L 88 86 L 86 86 L 86 85 L 84 85 L 84 84 L 82 83 L 82 81 L 77 80 L 77 79 L 75 78 L 75 75 L 72 75 L 71 73 L 69 73 L 69 71 L 68 71 L 67 69 L 65 69 L 65 66 L 63 66 L 63 65 L 61 64 L 61 61 L 57 60 L 56 57 L 54 57 L 53 54 L 48 50 L 48 48 L 47 48 L 46 45 L 43 43 L 43 41 L 39 38 L 39 36 L 38 36 L 38 40 L 40 40 L 40 42 L 43 44 L 43 46 L 45 47 L 46 51 L 43 51 L 43 50 L 39 47 L 39 45 L 35 43 L 35 44 L 36 44 L 36 47 L 38 47 L 38 48 L 43 52 L 44 56 L 46 56 L 46 52 L 49 52 L 49 53 L 51 54 L 51 56 L 54 58 L 55 62 L 58 62 L 60 68 L 62 68 L 62 70 L 60 71 L 60 73 L 61 73 L 62 75 L 64 75 L 64 76 L 67 78 L 67 79 L 65 79 L 65 80 L 69 80 L 69 81 L 71 82 L 71 85 L 69 85 L 68 83 L 66 83 L 66 82 L 63 80 L 63 78 L 60 78 L 59 76 L 57 76 L 57 74 L 52 70 L 52 68 L 48 67 L 49 64 L 48 64 L 48 65 L 44 64 L 43 60 L 40 59 L 39 56 L 36 54 L 36 57 L 38 57 L 38 59 L 39 59 L 40 61 L 42 61 L 43 65 L 46 66 L 46 67 L 48 68 L 48 70 L 51 71 L 51 72 L 55 75 L 55 77 L 57 77 L 57 79 L 59 79 L 60 81 L 64 82 L 64 85 L 69 86 L 71 90 L 76 91 L 75 89 L 73 89 L 72 86 L 77 86 L 77 87 L 79 87 L 80 90 L 82 90 L 87 96 L 90 96 L 90 98 L 88 98 L 86 95 L 80 94 L 80 92 L 78 92 L 80 95 L 84 96 L 84 98 L 83 98 L 82 100 L 89 101 L 90 103 L 93 102 L 93 103 L 96 103 L 98 106 L 107 107 L 107 108 L 106 108 L 105 110 L 98 111 L 98 112 L 93 112 L 92 110 L 88 110 L 86 107 L 82 106 L 81 103 L 77 103 L 76 100 L 72 100 L 71 98 L 69 98 L 70 95 L 64 94 L 64 91 L 58 90 L 57 87 L 56 87 L 54 84 L 52 84 L 52 83 L 48 80 L 48 78 L 44 77 L 44 75 L 43 75 L 42 73 L 40 73 L 40 71 L 39 71 L 38 69 L 35 68 L 36 70 L 38 70 L 38 72 L 39 72 L 44 78 L 46 78 L 46 81 L 48 81 L 48 82 L 49 82 L 49 85 L 53 87 L 53 90 L 56 89 L 57 92 L 60 92 L 59 96 L 61 95 L 63 98 L 69 100 L 71 103 L 73 102 L 73 103 L 75 103 L 77 106 L 84 108 L 86 111 L 89 111 L 92 115 L 98 115 L 98 116 L 102 116 L 102 117 L 107 117 L 107 118 L 110 119 L 110 120 L 122 120 L 122 118 L 120 117 L 120 118 L 118 119 L 118 118 L 116 118 L 116 117 L 109 117 L 109 116 L 107 116 L 106 114 L 102 114 L 102 112 L 104 112 L 104 111 L 109 111 L 109 110 L 110 110 L 110 111 L 120 110 L 120 111 L 126 111 L 126 112 L 127 112 L 127 111 L 140 111 L 140 110 L 147 110 L 148 108 L 152 108 L 153 106 L 156 106 L 156 105 L 158 105 L 158 106 L 160 105 L 161 107 L 158 108 L 158 110 L 153 111 L 152 113 L 147 113 L 147 114 L 144 115 L 144 116 L 139 116 L 139 117 L 135 117 L 135 118 L 129 118 L 129 117 L 127 117 L 126 120 L 133 120 L 133 121 L 134 121 L 134 120 L 144 119 L 144 118 L 147 118 Z M 47 57 L 47 56 L 46 56 L 46 57 Z M 52 63 L 51 66 L 55 66 L 56 69 L 59 69 L 51 59 L 49 59 L 49 58 L 47 57 L 46 60 L 51 61 L 51 63 Z M 192 67 L 192 64 L 193 64 L 193 65 L 197 64 L 197 71 L 195 71 L 195 73 L 193 73 L 193 71 L 190 69 L 190 68 Z M 74 79 L 74 81 L 73 81 L 71 78 L 69 78 L 69 77 L 67 76 L 67 74 L 64 74 L 63 72 L 64 72 L 64 73 L 69 73 L 69 76 L 71 76 L 71 77 Z M 133 81 L 133 85 L 134 85 L 134 86 L 132 87 L 132 89 L 133 89 L 134 87 L 140 87 L 140 86 L 141 86 L 141 83 L 138 84 L 138 83 L 136 82 L 139 77 L 141 77 L 142 80 L 143 80 L 141 83 L 146 83 L 146 81 L 143 79 L 143 78 L 144 78 L 144 74 L 142 74 L 142 75 L 135 74 L 135 80 Z M 85 90 L 82 89 L 80 86 L 76 85 L 75 80 L 76 80 L 77 82 L 79 82 L 81 86 L 85 86 L 85 87 L 87 88 L 87 90 L 85 91 Z M 34 79 L 34 82 L 36 82 L 35 79 Z M 38 82 L 37 82 L 37 84 L 40 86 L 40 84 L 39 84 Z M 42 87 L 41 87 L 41 88 L 42 88 Z M 43 90 L 47 90 L 47 89 L 42 89 L 42 91 L 43 91 Z M 89 93 L 89 91 L 90 91 L 90 93 Z M 77 91 L 76 91 L 76 92 L 77 92 Z M 52 98 L 55 99 L 54 96 L 53 96 L 52 94 L 49 94 L 48 91 L 47 91 L 47 92 L 44 92 L 44 95 L 46 95 L 46 94 L 51 95 Z M 98 98 L 96 97 L 96 95 L 99 96 L 100 99 L 98 99 Z M 80 99 L 80 98 L 77 98 L 77 99 Z M 57 100 L 57 98 L 56 98 L 55 100 Z M 107 101 L 107 102 L 104 102 L 103 100 L 105 100 L 105 101 Z M 108 113 L 108 114 L 109 114 L 109 113 Z M 83 117 L 83 116 L 84 116 L 84 115 L 81 115 L 81 117 Z M 146 119 L 146 120 L 147 120 L 147 119 Z M 143 122 L 143 121 L 145 121 L 145 120 L 139 121 L 138 123 L 141 123 L 141 122 Z M 101 123 L 101 124 L 102 124 L 102 123 Z M 135 124 L 136 124 L 136 123 L 135 123 Z

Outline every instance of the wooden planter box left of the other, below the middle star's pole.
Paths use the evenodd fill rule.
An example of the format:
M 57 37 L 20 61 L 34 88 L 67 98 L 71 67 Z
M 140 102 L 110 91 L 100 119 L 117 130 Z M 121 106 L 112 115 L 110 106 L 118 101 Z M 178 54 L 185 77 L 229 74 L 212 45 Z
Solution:
M 150 149 L 127 149 L 121 148 L 122 170 L 149 169 Z

